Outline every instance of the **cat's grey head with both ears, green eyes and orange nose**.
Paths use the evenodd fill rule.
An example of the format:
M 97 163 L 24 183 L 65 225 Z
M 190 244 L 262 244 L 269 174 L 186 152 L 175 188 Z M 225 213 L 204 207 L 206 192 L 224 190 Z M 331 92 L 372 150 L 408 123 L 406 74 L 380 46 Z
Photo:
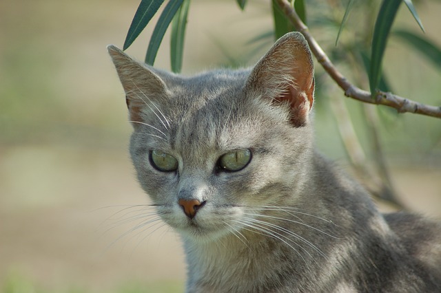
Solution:
M 210 241 L 300 200 L 314 101 L 314 65 L 301 34 L 283 36 L 251 69 L 192 77 L 108 50 L 134 127 L 139 182 L 167 224 Z

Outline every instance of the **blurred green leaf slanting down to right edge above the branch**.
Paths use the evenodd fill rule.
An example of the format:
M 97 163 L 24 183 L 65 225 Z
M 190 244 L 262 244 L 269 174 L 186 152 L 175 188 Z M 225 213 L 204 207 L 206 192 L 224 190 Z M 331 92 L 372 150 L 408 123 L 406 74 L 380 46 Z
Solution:
M 422 56 L 426 57 L 432 65 L 441 70 L 441 48 L 429 39 L 407 30 L 393 32 L 393 36 L 398 36 L 402 41 L 407 42 L 411 47 L 418 50 Z

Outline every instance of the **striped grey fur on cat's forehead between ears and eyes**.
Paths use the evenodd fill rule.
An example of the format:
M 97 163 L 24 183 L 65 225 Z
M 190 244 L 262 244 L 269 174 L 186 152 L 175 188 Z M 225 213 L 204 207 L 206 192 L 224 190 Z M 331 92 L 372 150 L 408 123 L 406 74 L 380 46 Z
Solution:
M 165 124 L 145 107 L 147 124 L 163 129 L 167 140 L 156 145 L 191 155 L 250 148 L 271 133 L 274 125 L 285 123 L 283 111 L 245 92 L 249 71 L 214 71 L 166 80 L 167 100 L 154 105 L 167 119 Z M 248 96 L 247 96 L 248 95 Z M 152 138 L 153 140 L 155 138 Z

